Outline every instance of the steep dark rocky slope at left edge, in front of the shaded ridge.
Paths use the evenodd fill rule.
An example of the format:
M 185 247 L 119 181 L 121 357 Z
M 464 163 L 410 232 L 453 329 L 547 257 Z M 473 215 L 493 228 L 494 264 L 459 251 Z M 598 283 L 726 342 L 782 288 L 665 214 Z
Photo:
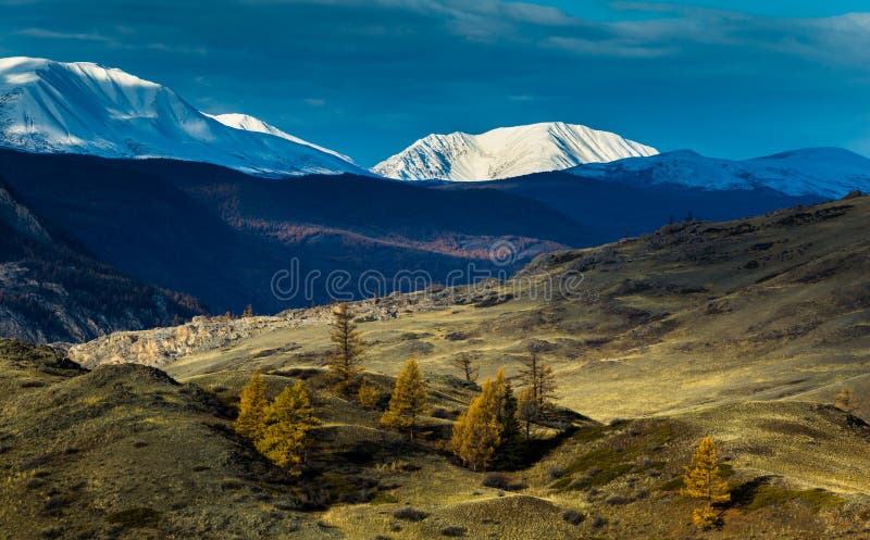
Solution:
M 178 324 L 206 310 L 96 261 L 0 178 L 0 336 L 87 341 L 117 330 Z

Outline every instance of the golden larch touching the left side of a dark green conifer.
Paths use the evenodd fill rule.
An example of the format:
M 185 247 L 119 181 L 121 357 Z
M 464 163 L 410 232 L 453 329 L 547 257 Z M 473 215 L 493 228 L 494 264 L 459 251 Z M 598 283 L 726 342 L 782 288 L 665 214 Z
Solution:
M 488 467 L 501 441 L 497 402 L 495 384 L 487 378 L 481 394 L 453 424 L 450 448 L 472 470 Z

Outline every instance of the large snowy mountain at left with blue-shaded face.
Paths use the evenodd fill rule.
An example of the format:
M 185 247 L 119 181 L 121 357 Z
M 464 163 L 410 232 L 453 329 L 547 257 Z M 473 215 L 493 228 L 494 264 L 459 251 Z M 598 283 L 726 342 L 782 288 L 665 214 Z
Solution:
M 0 59 L 0 147 L 173 158 L 263 176 L 368 174 L 252 117 L 210 117 L 171 89 L 91 63 Z

